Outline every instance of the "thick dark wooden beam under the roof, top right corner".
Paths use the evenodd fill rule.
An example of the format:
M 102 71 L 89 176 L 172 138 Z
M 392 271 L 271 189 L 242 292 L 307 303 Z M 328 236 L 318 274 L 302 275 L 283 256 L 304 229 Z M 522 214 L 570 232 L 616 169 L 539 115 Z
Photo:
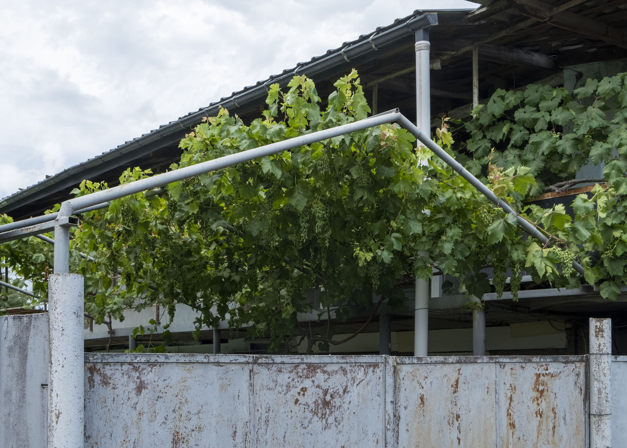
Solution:
M 622 48 L 627 48 L 627 33 L 597 20 L 580 16 L 570 11 L 553 13 L 551 5 L 540 0 L 514 0 L 520 5 L 519 11 L 530 18 L 551 23 L 582 36 L 602 40 Z

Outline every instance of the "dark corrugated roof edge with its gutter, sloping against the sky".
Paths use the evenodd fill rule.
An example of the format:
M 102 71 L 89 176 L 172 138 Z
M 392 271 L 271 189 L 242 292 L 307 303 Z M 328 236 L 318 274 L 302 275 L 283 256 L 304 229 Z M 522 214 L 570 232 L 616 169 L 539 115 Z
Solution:
M 472 10 L 473 8 L 438 9 L 438 10 L 431 10 L 431 11 L 433 12 L 445 12 L 445 11 L 463 12 L 463 11 L 472 11 Z M 323 61 L 328 60 L 329 58 L 332 58 L 332 56 L 337 56 L 341 54 L 343 56 L 343 59 L 348 60 L 345 55 L 349 54 L 349 52 L 353 50 L 354 48 L 356 48 L 357 45 L 364 43 L 365 41 L 370 41 L 372 43 L 373 40 L 377 40 L 381 38 L 382 36 L 386 35 L 386 33 L 388 33 L 389 31 L 393 29 L 398 29 L 399 24 L 408 24 L 409 28 L 407 29 L 406 32 L 413 33 L 413 31 L 415 31 L 415 28 L 414 26 L 412 26 L 412 23 L 416 21 L 416 19 L 423 18 L 425 15 L 433 16 L 433 18 L 428 18 L 428 19 L 433 22 L 435 18 L 435 23 L 431 23 L 431 24 L 437 24 L 437 16 L 435 14 L 426 14 L 426 11 L 416 10 L 414 11 L 414 13 L 410 14 L 409 16 L 396 19 L 394 23 L 389 24 L 388 26 L 378 27 L 371 33 L 359 36 L 359 38 L 357 38 L 354 41 L 344 42 L 338 48 L 335 48 L 333 50 L 327 50 L 327 52 L 324 55 L 315 56 L 311 58 L 309 61 L 297 63 L 295 67 L 285 69 L 283 70 L 282 73 L 279 73 L 277 75 L 271 75 L 265 80 L 258 81 L 257 83 L 255 83 L 255 85 L 246 86 L 242 90 L 239 90 L 238 92 L 231 93 L 231 95 L 229 95 L 228 97 L 222 97 L 218 101 L 212 102 L 206 107 L 199 108 L 198 111 L 189 112 L 189 114 L 183 115 L 182 117 L 179 117 L 179 119 L 177 120 L 173 120 L 167 124 L 162 124 L 161 126 L 159 126 L 159 128 L 152 129 L 152 131 L 147 132 L 146 134 L 142 134 L 142 136 L 140 137 L 135 137 L 132 140 L 124 142 L 124 144 L 120 144 L 119 146 L 113 149 L 110 149 L 109 151 L 102 152 L 102 154 L 100 154 L 99 156 L 92 157 L 90 159 L 87 159 L 87 161 L 85 162 L 78 163 L 76 165 L 71 166 L 70 168 L 66 168 L 60 173 L 57 173 L 54 176 L 51 176 L 50 178 L 44 179 L 36 184 L 33 184 L 29 186 L 28 188 L 20 189 L 20 191 L 18 191 L 17 193 L 6 196 L 2 200 L 0 200 L 0 213 L 6 213 L 7 211 L 13 210 L 14 208 L 17 208 L 18 206 L 26 205 L 28 203 L 38 200 L 39 198 L 43 198 L 45 196 L 53 194 L 56 191 L 60 191 L 63 188 L 67 188 L 68 185 L 66 184 L 59 185 L 58 188 L 56 189 L 54 188 L 54 186 L 55 184 L 63 183 L 63 181 L 66 181 L 67 183 L 67 181 L 69 180 L 68 178 L 75 178 L 75 176 L 80 177 L 80 174 L 83 173 L 82 175 L 84 177 L 80 177 L 80 179 L 75 179 L 74 184 L 77 184 L 78 182 L 82 181 L 83 178 L 88 178 L 90 175 L 93 175 L 93 174 L 90 174 L 90 171 L 96 170 L 96 167 L 98 167 L 97 171 L 100 171 L 100 173 L 107 171 L 107 169 L 115 168 L 115 163 L 114 163 L 114 164 L 111 164 L 110 167 L 105 169 L 105 167 L 108 165 L 107 161 L 114 161 L 114 159 L 119 159 L 119 157 L 123 154 L 133 152 L 139 149 L 140 147 L 146 147 L 150 144 L 154 144 L 157 141 L 166 139 L 166 137 L 169 134 L 172 134 L 172 132 L 181 131 L 181 129 L 189 129 L 191 125 L 198 124 L 198 122 L 200 122 L 201 117 L 203 117 L 203 115 L 216 114 L 218 111 L 219 105 L 223 105 L 224 107 L 229 107 L 229 108 L 233 107 L 233 105 L 234 107 L 240 107 L 241 105 L 246 104 L 246 102 L 250 102 L 251 99 L 256 99 L 260 97 L 261 95 L 265 95 L 265 93 L 268 91 L 268 86 L 271 83 L 275 83 L 275 82 L 281 83 L 282 81 L 284 83 L 287 83 L 289 78 L 293 74 L 296 74 L 298 72 L 301 72 L 301 73 L 306 72 L 307 71 L 305 70 L 306 68 L 313 67 L 317 65 L 317 63 L 322 63 Z M 423 26 L 424 24 L 420 24 L 419 28 L 423 28 Z M 374 43 L 372 44 L 372 46 L 374 48 Z M 255 94 L 248 95 L 249 93 L 253 93 L 253 91 L 255 91 Z M 238 99 L 240 100 L 240 102 L 238 102 Z M 170 142 L 166 142 L 166 144 L 170 144 Z M 150 152 L 150 150 L 146 149 L 146 152 Z M 137 157 L 141 155 L 143 154 L 138 154 Z M 132 160 L 132 158 L 130 160 Z M 120 164 L 124 163 L 124 161 L 117 161 L 116 163 L 119 166 Z M 101 167 L 100 165 L 102 164 L 104 164 L 105 166 Z M 48 190 L 48 191 L 44 193 L 44 190 Z

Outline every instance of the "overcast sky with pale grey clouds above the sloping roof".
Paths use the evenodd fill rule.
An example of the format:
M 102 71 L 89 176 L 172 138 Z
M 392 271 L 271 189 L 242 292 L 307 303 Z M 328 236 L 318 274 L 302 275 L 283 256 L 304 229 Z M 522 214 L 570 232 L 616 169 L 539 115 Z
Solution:
M 0 14 L 0 198 L 337 48 L 464 0 L 42 1 Z

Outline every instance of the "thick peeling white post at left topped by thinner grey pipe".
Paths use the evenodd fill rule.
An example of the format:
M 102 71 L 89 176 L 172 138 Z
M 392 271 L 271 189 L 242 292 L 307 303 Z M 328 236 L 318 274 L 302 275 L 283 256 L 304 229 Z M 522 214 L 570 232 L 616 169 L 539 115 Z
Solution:
M 48 447 L 83 447 L 83 276 L 70 274 L 71 206 L 61 204 L 55 220 L 54 274 L 48 280 Z

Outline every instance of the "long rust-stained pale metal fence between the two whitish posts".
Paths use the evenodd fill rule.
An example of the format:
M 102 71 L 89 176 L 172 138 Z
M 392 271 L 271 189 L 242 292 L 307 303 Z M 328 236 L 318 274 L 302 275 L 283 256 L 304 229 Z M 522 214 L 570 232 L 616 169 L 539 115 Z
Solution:
M 584 446 L 583 356 L 87 355 L 85 446 Z

